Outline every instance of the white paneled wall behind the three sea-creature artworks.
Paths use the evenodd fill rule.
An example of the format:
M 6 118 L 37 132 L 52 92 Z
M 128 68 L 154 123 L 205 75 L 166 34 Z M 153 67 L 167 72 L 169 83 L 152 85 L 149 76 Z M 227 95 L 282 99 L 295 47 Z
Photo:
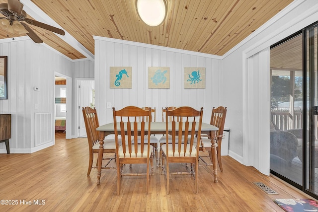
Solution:
M 204 108 L 204 122 L 210 122 L 213 106 L 220 104 L 220 63 L 217 56 L 159 48 L 135 42 L 119 43 L 116 39 L 95 39 L 95 98 L 100 124 L 112 122 L 112 109 L 128 105 L 156 107 L 161 121 L 161 107 L 191 106 Z M 132 88 L 110 88 L 110 67 L 132 67 Z M 170 67 L 170 88 L 149 89 L 148 67 Z M 185 67 L 205 67 L 205 89 L 184 89 Z

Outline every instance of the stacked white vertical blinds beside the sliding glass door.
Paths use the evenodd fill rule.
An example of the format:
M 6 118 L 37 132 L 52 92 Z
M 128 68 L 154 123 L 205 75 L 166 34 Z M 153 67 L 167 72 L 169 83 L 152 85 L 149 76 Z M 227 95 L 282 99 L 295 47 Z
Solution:
M 246 114 L 243 123 L 248 120 L 248 130 L 244 134 L 248 165 L 255 167 L 263 174 L 269 175 L 269 117 L 270 89 L 269 82 L 269 47 L 247 59 Z M 245 102 L 244 102 L 245 103 Z

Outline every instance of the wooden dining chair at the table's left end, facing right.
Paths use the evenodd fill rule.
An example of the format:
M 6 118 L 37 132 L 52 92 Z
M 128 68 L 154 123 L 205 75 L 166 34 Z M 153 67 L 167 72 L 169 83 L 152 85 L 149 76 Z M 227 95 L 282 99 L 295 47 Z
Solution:
M 89 162 L 88 162 L 88 171 L 87 176 L 90 174 L 92 168 L 97 168 L 97 161 L 96 166 L 93 166 L 94 154 L 98 154 L 99 152 L 99 141 L 98 141 L 98 132 L 96 128 L 99 127 L 98 117 L 96 108 L 91 107 L 83 107 L 82 108 L 84 123 L 86 128 L 87 140 L 88 140 L 88 150 L 89 150 Z M 119 140 L 119 145 L 120 145 Z M 115 139 L 106 139 L 104 142 L 104 151 L 103 153 L 116 153 L 116 144 Z M 105 166 L 102 166 L 103 169 L 116 169 L 115 167 L 107 167 L 111 160 L 115 159 L 114 157 L 103 158 L 103 160 L 108 160 Z

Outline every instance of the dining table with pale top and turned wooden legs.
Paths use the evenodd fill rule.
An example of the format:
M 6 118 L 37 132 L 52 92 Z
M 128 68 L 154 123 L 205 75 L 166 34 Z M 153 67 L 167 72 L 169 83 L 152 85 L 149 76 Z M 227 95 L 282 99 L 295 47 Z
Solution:
M 138 124 L 138 128 L 140 129 L 140 123 Z M 145 125 L 145 131 L 148 131 L 148 124 Z M 178 126 L 176 124 L 176 126 Z M 166 134 L 166 123 L 165 122 L 151 122 L 151 134 L 159 134 L 165 135 Z M 168 131 L 172 129 L 172 124 L 168 123 Z M 198 125 L 196 125 L 196 130 L 198 129 Z M 115 134 L 114 131 L 114 123 L 108 123 L 105 125 L 101 125 L 96 130 L 99 133 L 99 152 L 98 152 L 98 160 L 97 160 L 97 185 L 100 184 L 100 176 L 101 176 L 101 167 L 102 167 L 102 158 L 103 158 L 103 145 L 104 139 L 108 135 Z M 216 126 L 210 125 L 208 123 L 203 123 L 201 126 L 201 135 L 206 134 L 208 135 L 209 139 L 211 139 L 211 153 L 212 153 L 212 163 L 213 163 L 213 175 L 214 175 L 214 182 L 218 182 L 218 169 L 217 169 L 217 146 L 218 144 L 215 141 L 216 131 L 219 130 Z M 184 129 L 183 129 L 184 131 Z M 117 132 L 120 133 L 120 125 L 117 124 Z M 107 142 L 107 141 L 106 141 Z

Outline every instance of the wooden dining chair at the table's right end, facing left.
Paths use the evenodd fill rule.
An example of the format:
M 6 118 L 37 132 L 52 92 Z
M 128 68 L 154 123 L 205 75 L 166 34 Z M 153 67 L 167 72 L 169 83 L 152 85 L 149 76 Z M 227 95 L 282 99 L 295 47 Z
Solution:
M 217 147 L 217 157 L 218 157 L 218 163 L 221 172 L 223 171 L 222 167 L 222 160 L 221 160 L 221 143 L 222 143 L 222 138 L 223 138 L 223 130 L 224 130 L 224 124 L 225 124 L 225 117 L 227 115 L 227 107 L 220 106 L 218 108 L 212 109 L 212 115 L 211 115 L 211 121 L 210 124 L 216 126 L 219 128 L 219 130 L 216 132 L 216 138 L 215 141 L 218 144 Z M 209 156 L 201 156 L 199 155 L 199 158 L 203 161 L 204 164 L 200 164 L 199 166 L 210 166 L 213 165 L 212 163 L 207 163 L 204 161 L 203 157 L 210 157 L 211 162 L 212 160 L 212 140 L 208 138 L 207 135 L 202 135 L 201 136 L 201 141 L 200 141 L 200 151 L 209 151 Z

